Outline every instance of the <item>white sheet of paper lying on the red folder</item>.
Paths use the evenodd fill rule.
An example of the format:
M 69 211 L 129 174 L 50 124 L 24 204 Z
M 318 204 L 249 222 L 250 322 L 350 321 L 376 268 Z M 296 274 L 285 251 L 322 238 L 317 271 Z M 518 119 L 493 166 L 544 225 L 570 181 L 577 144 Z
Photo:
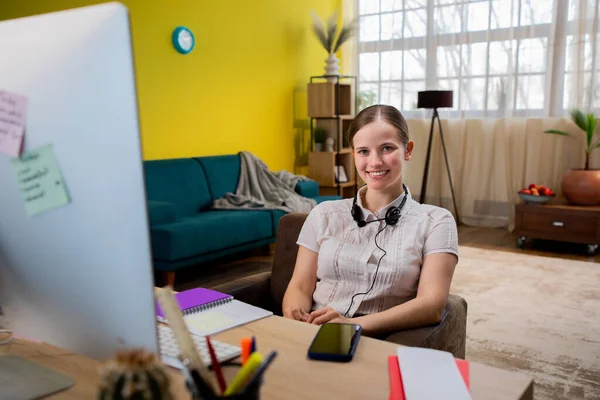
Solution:
M 451 353 L 418 347 L 396 353 L 406 400 L 471 399 Z

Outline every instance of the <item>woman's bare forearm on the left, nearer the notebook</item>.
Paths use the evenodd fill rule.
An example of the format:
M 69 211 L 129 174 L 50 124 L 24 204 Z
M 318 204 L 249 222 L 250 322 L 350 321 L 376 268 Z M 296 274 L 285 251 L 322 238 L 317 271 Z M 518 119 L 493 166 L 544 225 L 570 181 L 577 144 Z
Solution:
M 296 265 L 283 296 L 283 316 L 305 321 L 312 308 L 312 295 L 317 286 L 318 253 L 299 246 Z

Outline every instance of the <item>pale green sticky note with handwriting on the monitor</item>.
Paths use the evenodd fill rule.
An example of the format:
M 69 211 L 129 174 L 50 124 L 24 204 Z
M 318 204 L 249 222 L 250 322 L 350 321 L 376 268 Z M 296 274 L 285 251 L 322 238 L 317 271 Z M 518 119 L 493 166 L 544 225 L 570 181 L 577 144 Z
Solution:
M 24 152 L 12 165 L 30 217 L 70 202 L 52 145 Z

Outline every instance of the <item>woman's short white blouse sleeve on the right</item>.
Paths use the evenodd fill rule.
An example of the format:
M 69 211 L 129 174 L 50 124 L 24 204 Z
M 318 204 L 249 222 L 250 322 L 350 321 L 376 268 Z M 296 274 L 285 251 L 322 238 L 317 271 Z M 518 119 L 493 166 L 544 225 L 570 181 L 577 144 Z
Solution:
M 451 253 L 458 257 L 458 232 L 452 214 L 445 209 L 434 211 L 425 236 L 423 256 L 434 253 Z

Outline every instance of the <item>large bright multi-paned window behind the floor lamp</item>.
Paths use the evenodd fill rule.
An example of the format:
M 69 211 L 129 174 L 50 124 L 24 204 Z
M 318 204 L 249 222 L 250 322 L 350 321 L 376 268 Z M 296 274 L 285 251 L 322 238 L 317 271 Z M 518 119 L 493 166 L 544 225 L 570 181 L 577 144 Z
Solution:
M 361 107 L 410 114 L 418 91 L 451 89 L 449 116 L 553 115 L 592 85 L 583 104 L 600 108 L 600 24 L 586 1 L 358 0 Z

